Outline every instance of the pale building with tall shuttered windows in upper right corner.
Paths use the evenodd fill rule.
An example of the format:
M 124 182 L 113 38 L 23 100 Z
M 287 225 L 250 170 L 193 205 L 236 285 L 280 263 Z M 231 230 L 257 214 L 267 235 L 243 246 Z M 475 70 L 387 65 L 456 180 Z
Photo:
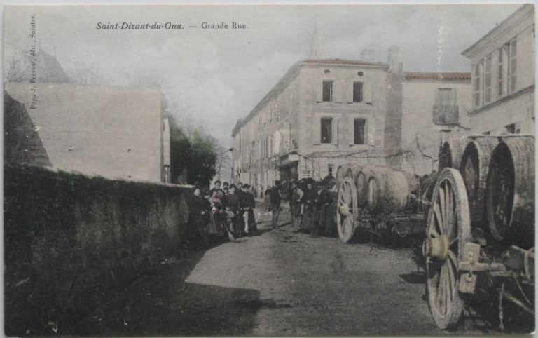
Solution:
M 525 4 L 464 50 L 472 133 L 534 135 L 534 45 L 534 4 Z

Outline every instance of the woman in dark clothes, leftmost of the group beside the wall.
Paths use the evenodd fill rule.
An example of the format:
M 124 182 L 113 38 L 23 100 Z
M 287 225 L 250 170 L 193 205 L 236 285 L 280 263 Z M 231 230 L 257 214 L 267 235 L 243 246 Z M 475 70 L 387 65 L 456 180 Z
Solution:
M 187 239 L 195 248 L 207 248 L 207 223 L 209 222 L 209 201 L 200 196 L 200 187 L 193 189 L 188 201 Z

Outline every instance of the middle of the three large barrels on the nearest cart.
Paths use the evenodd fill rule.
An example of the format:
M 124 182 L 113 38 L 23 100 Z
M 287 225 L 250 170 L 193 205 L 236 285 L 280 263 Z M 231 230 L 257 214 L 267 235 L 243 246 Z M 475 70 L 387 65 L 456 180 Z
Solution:
M 460 173 L 467 189 L 471 224 L 474 227 L 486 224 L 485 216 L 485 179 L 488 177 L 490 159 L 499 137 L 469 137 L 460 163 Z

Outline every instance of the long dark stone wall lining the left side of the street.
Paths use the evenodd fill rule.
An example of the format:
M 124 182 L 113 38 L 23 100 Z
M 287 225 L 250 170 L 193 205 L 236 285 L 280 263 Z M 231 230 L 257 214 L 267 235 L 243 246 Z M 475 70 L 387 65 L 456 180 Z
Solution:
M 4 165 L 5 334 L 50 334 L 55 326 L 76 334 L 98 304 L 179 248 L 190 194 Z

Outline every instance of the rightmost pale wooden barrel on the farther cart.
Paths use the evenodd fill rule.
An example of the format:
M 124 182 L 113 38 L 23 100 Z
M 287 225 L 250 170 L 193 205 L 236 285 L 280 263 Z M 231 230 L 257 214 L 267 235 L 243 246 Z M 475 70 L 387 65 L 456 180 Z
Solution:
M 411 204 L 411 191 L 418 189 L 418 179 L 400 170 L 375 166 L 368 179 L 368 209 L 374 214 L 401 212 Z M 358 191 L 357 191 L 358 193 Z

